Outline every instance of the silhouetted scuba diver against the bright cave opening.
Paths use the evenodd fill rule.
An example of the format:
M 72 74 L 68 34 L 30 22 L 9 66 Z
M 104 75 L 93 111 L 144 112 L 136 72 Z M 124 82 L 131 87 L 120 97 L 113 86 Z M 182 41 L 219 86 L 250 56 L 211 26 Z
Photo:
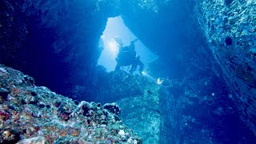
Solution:
M 133 74 L 134 71 L 137 70 L 137 67 L 139 66 L 139 72 L 140 74 L 142 74 L 144 64 L 140 60 L 139 55 L 136 54 L 134 44 L 136 41 L 138 41 L 138 39 L 131 41 L 130 46 L 123 46 L 121 38 L 115 37 L 114 40 L 119 44 L 118 57 L 115 58 L 116 62 L 118 63 L 117 66 L 115 66 L 114 70 L 120 70 L 121 66 L 131 66 L 129 72 L 130 74 Z

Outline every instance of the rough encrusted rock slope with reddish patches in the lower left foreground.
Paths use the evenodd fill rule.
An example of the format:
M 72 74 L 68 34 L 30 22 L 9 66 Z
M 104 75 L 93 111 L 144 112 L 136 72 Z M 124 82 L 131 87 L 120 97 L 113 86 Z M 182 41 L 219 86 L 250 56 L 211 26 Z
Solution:
M 18 70 L 0 65 L 0 88 L 0 142 L 142 143 L 100 103 L 77 105 Z

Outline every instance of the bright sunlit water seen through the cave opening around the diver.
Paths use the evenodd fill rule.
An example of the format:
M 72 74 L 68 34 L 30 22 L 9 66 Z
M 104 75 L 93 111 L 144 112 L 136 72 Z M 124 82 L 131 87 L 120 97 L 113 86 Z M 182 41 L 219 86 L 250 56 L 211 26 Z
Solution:
M 129 46 L 130 41 L 137 38 L 126 27 L 121 16 L 108 18 L 106 29 L 101 37 L 104 49 L 102 50 L 100 58 L 98 58 L 98 64 L 104 66 L 107 72 L 114 71 L 114 67 L 117 64 L 115 58 L 118 55 L 118 43 L 114 41 L 115 36 L 122 38 L 124 46 Z M 146 70 L 148 63 L 153 62 L 158 58 L 158 56 L 150 51 L 140 40 L 135 42 L 135 50 L 145 65 L 144 70 Z M 123 68 L 123 70 L 127 69 L 128 67 Z

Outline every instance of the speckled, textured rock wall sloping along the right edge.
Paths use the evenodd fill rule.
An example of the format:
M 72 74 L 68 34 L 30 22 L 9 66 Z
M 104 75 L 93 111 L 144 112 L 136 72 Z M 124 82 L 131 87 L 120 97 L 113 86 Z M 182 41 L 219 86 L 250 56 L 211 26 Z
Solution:
M 256 135 L 255 8 L 255 1 L 198 1 L 195 16 L 233 92 L 230 97 Z

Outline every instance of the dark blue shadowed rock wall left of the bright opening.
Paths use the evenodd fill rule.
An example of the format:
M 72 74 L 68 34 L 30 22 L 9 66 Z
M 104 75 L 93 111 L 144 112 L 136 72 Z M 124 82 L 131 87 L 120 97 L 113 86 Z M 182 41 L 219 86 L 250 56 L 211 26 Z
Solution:
M 90 81 L 101 52 L 98 39 L 107 18 L 118 14 L 109 1 L 9 0 L 0 5 L 1 63 L 62 94 L 63 87 Z

